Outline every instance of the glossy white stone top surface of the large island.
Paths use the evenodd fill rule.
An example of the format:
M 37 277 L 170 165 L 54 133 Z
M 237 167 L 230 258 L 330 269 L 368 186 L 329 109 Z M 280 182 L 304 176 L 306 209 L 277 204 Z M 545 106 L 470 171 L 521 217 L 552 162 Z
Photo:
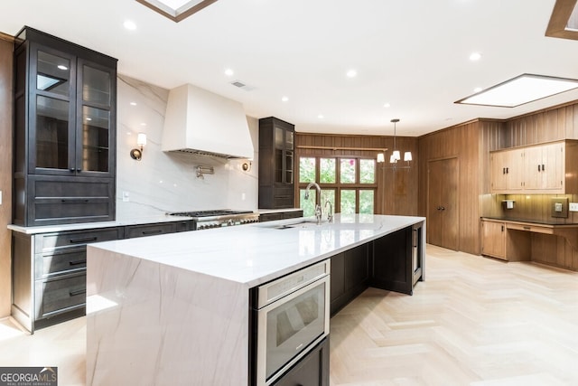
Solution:
M 321 225 L 314 218 L 267 221 L 93 243 L 88 251 L 90 254 L 91 249 L 106 249 L 255 287 L 424 220 L 338 213 L 333 223 Z

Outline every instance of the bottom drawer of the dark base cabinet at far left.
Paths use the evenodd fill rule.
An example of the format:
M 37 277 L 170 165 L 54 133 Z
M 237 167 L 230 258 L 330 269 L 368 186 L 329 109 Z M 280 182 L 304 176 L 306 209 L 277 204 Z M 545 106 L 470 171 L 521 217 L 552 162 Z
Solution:
M 49 317 L 86 304 L 86 274 L 36 281 L 36 318 Z

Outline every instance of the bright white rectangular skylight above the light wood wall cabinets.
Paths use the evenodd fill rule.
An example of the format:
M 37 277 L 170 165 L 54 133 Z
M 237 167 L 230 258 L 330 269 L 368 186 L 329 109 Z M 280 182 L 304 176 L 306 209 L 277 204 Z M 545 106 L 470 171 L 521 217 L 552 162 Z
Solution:
M 515 108 L 577 88 L 578 80 L 522 74 L 455 103 Z

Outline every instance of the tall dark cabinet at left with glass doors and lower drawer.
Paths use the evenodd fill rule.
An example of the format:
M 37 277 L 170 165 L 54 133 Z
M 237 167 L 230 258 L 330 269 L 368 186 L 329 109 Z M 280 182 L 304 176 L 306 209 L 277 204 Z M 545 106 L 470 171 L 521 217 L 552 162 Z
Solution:
M 14 80 L 14 224 L 114 220 L 117 60 L 24 27 Z

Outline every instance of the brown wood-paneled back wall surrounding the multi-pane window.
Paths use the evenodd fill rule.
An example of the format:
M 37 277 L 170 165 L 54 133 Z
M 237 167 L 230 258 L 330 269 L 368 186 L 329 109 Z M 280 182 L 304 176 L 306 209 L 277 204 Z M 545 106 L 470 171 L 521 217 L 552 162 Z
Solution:
M 419 155 L 418 140 L 415 137 L 396 137 L 396 147 L 402 154 L 411 151 L 414 160 L 409 169 L 389 168 L 389 163 L 379 165 L 377 170 L 378 191 L 376 200 L 376 213 L 417 215 Z M 370 150 L 333 150 L 333 149 L 310 149 L 300 146 L 327 146 L 327 147 L 368 147 L 387 149 L 386 160 L 393 151 L 394 138 L 381 136 L 347 136 L 328 134 L 295 134 L 295 178 L 299 181 L 299 157 L 300 156 L 365 156 L 376 158 L 378 151 Z M 298 189 L 296 187 L 296 189 Z M 295 192 L 295 197 L 299 193 Z M 296 203 L 296 202 L 295 202 Z

